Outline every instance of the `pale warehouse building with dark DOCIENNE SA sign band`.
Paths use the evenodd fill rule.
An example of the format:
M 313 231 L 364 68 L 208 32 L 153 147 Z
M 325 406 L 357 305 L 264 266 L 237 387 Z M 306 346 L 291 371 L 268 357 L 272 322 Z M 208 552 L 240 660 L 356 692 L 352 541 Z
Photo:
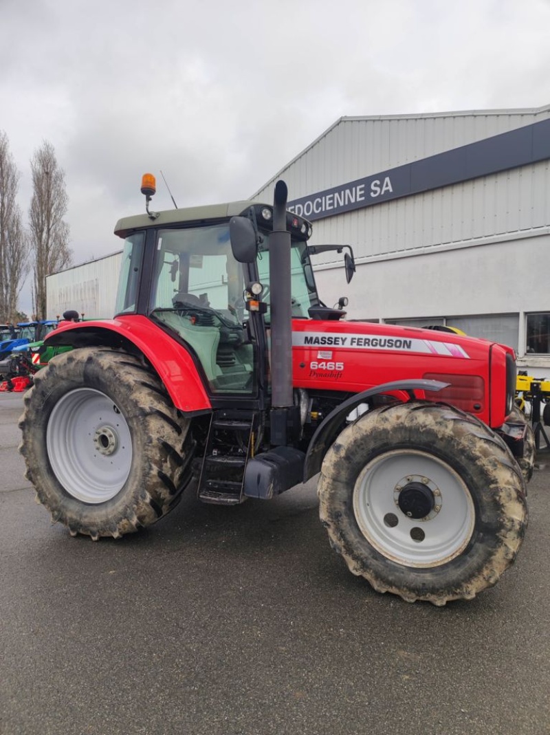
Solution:
M 550 372 L 550 105 L 340 118 L 251 198 L 270 202 L 278 179 L 314 223 L 312 244 L 354 249 L 349 285 L 341 256 L 315 257 L 326 304 L 346 295 L 351 319 L 455 326 Z M 50 276 L 49 316 L 109 315 L 101 272 L 118 267 L 105 260 Z M 95 314 L 74 302 L 85 282 Z

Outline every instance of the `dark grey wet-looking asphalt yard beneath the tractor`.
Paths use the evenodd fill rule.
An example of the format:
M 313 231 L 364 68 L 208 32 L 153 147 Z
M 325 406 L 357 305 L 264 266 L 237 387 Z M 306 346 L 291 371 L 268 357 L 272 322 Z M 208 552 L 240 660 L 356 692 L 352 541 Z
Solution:
M 436 608 L 347 571 L 312 483 L 71 538 L 24 479 L 22 403 L 0 394 L 2 735 L 550 734 L 546 452 L 515 565 Z

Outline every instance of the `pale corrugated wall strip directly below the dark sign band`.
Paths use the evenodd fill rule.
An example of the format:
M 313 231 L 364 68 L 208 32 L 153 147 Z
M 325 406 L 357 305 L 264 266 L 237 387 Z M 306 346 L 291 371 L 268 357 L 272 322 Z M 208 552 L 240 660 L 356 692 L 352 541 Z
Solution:
M 357 259 L 372 259 L 549 223 L 550 165 L 540 162 L 316 221 L 312 243 L 352 243 Z

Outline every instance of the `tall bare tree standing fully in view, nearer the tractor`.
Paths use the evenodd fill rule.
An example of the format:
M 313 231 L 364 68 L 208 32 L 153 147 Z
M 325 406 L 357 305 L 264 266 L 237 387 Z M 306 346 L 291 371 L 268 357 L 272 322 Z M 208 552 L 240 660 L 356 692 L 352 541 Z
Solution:
M 46 318 L 46 276 L 71 264 L 65 172 L 57 165 L 54 146 L 47 140 L 31 159 L 32 201 L 29 209 L 30 248 L 34 279 L 32 310 Z

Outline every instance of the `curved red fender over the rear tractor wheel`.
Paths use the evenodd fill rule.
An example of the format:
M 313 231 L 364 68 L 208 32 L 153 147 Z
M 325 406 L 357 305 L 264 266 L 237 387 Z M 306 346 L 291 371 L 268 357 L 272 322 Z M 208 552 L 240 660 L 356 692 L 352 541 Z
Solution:
M 48 334 L 44 344 L 74 348 L 98 345 L 132 354 L 140 352 L 156 370 L 177 409 L 185 413 L 212 410 L 193 358 L 185 347 L 144 316 L 63 324 Z

